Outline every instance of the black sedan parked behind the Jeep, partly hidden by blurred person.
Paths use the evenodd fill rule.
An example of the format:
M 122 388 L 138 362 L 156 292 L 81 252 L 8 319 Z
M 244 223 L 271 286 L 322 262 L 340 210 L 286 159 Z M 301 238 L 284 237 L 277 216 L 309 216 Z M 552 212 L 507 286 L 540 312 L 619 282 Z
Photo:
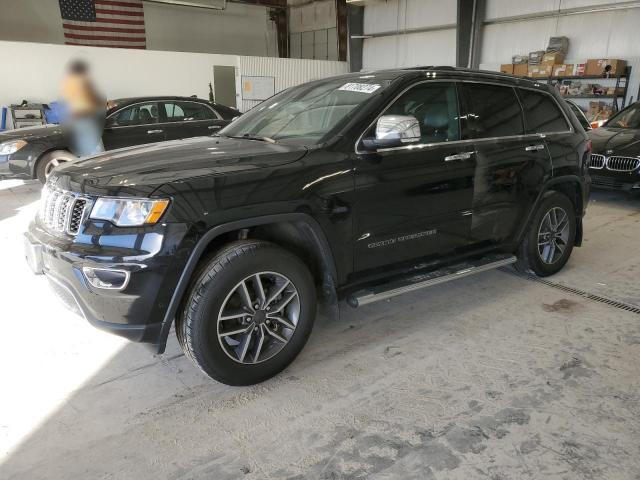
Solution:
M 106 150 L 210 135 L 240 112 L 194 97 L 136 97 L 109 102 L 102 141 Z M 0 178 L 38 178 L 76 160 L 60 125 L 0 132 Z

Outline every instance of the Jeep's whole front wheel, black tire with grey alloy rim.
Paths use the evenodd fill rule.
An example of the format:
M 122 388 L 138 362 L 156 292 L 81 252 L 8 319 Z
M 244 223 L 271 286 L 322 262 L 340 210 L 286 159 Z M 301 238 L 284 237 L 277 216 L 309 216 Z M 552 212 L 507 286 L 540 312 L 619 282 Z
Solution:
M 260 383 L 286 368 L 307 342 L 316 289 L 290 252 L 264 241 L 234 242 L 205 260 L 194 278 L 176 334 L 185 355 L 211 378 L 227 385 Z

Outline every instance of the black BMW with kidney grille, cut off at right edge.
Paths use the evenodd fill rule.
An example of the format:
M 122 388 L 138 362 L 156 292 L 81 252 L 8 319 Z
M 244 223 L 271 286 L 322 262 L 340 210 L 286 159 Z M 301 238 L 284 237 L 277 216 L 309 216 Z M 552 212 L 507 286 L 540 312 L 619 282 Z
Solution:
M 589 163 L 594 187 L 640 192 L 640 102 L 588 132 L 593 150 Z

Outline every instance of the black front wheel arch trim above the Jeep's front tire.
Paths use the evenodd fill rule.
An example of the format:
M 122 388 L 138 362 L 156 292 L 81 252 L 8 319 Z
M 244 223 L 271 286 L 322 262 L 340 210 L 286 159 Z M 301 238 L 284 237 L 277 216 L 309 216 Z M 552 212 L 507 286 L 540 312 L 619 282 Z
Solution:
M 335 300 L 337 271 L 333 253 L 324 231 L 316 220 L 306 213 L 286 213 L 239 220 L 215 226 L 207 230 L 193 248 L 162 321 L 158 343 L 152 348 L 163 353 L 171 325 L 180 311 L 188 288 L 200 261 L 233 239 L 271 241 L 286 248 L 311 267 L 314 280 L 322 288 L 323 295 Z

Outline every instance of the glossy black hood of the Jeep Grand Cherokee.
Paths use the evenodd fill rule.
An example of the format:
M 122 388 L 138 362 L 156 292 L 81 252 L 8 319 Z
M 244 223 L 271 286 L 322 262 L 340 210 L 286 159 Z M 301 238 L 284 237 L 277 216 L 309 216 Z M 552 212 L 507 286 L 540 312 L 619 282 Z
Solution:
M 258 140 L 195 137 L 111 150 L 64 165 L 55 176 L 72 191 L 140 195 L 169 182 L 283 165 L 306 152 Z

